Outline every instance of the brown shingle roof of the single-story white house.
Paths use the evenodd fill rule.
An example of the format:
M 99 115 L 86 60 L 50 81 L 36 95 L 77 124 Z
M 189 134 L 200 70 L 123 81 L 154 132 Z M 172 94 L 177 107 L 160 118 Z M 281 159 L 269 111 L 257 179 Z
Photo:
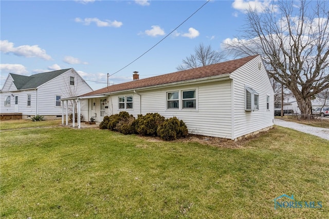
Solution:
M 188 81 L 193 79 L 230 74 L 234 70 L 246 64 L 247 62 L 249 62 L 250 60 L 252 60 L 257 56 L 259 55 L 249 56 L 242 59 L 231 60 L 227 62 L 207 65 L 198 68 L 192 68 L 188 70 L 177 71 L 166 75 L 160 75 L 151 78 L 145 78 L 136 81 L 115 84 L 112 86 L 108 86 L 107 88 L 104 87 L 95 90 L 93 92 L 84 94 L 82 96 L 100 95 L 110 92 L 118 92 L 123 90 L 141 88 L 141 87 L 149 87 L 149 86 L 155 86 L 161 84 L 169 84 L 169 83 L 180 82 L 180 81 Z

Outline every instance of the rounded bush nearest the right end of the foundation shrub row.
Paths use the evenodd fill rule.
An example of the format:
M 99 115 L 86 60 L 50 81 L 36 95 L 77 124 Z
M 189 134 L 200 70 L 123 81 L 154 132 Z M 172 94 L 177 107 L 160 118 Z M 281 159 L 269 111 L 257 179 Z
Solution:
M 176 140 L 177 138 L 186 137 L 188 129 L 182 120 L 176 117 L 166 119 L 157 129 L 158 136 L 163 140 Z

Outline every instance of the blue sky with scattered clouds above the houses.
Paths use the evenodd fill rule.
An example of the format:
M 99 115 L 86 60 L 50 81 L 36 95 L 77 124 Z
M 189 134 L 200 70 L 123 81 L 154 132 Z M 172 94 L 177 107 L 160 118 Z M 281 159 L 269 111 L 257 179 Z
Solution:
M 175 72 L 200 43 L 220 50 L 248 4 L 271 1 L 1 1 L 1 88 L 8 74 L 74 68 L 94 89 Z M 230 58 L 228 58 L 230 59 Z M 117 72 L 116 74 L 114 74 Z M 114 74 L 114 75 L 113 75 Z M 99 83 L 97 83 L 99 82 Z

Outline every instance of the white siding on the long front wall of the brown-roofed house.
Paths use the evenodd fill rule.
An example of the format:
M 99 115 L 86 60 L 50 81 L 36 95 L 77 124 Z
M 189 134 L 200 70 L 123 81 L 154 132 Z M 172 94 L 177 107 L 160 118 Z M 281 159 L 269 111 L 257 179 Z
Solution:
M 168 93 L 195 90 L 195 100 L 198 105 L 195 108 L 185 108 L 181 110 L 167 109 Z M 212 137 L 231 138 L 231 82 L 219 81 L 198 85 L 177 86 L 173 88 L 162 88 L 157 90 L 140 91 L 139 95 L 134 94 L 134 108 L 128 111 L 135 118 L 138 114 L 159 113 L 165 118 L 176 116 L 188 126 L 189 132 Z M 121 95 L 111 95 L 107 97 L 109 101 L 105 115 L 118 114 L 119 97 L 130 96 L 129 93 Z M 182 98 L 182 97 L 181 97 Z M 187 98 L 193 100 L 194 98 Z M 100 99 L 97 98 L 97 101 Z M 182 99 L 180 99 L 182 101 Z M 180 102 L 181 104 L 182 102 Z M 141 109 L 141 112 L 140 112 Z M 99 113 L 99 109 L 96 109 Z M 98 114 L 97 113 L 97 114 Z M 100 117 L 96 121 L 100 122 Z

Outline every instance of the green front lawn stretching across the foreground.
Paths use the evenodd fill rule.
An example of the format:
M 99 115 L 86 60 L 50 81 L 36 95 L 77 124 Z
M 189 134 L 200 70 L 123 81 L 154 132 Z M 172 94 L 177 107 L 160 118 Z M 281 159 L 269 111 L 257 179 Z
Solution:
M 1 218 L 329 217 L 328 141 L 280 126 L 237 149 L 67 127 L 0 134 Z M 282 194 L 323 207 L 275 210 Z

